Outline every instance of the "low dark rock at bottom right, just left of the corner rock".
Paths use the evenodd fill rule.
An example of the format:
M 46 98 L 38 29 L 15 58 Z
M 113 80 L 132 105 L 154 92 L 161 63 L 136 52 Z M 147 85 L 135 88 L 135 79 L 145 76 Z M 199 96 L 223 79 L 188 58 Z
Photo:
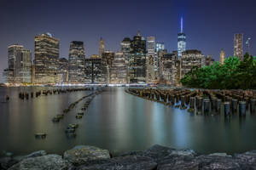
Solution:
M 201 170 L 241 170 L 239 163 L 231 156 L 198 156 L 195 159 Z

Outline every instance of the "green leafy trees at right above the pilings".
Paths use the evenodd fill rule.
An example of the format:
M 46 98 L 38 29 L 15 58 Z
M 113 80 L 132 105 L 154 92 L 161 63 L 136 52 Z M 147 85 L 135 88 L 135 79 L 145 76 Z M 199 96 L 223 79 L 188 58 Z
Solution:
M 249 54 L 245 54 L 242 61 L 229 57 L 224 65 L 214 62 L 210 66 L 192 68 L 181 82 L 190 88 L 256 89 L 256 60 Z

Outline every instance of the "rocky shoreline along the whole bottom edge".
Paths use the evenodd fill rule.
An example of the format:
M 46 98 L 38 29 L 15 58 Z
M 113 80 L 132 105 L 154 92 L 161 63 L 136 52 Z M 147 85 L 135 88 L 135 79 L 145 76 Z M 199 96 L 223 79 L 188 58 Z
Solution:
M 197 154 L 194 150 L 175 150 L 158 144 L 143 151 L 130 151 L 111 157 L 108 150 L 79 145 L 63 156 L 39 150 L 27 156 L 0 159 L 1 170 L 253 170 L 256 150 L 235 156 L 225 153 Z

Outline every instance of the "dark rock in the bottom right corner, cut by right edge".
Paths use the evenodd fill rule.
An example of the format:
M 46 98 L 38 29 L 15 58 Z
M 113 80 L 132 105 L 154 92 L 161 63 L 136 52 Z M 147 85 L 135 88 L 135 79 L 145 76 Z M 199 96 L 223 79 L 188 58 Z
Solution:
M 235 154 L 235 158 L 242 169 L 256 169 L 256 150 Z

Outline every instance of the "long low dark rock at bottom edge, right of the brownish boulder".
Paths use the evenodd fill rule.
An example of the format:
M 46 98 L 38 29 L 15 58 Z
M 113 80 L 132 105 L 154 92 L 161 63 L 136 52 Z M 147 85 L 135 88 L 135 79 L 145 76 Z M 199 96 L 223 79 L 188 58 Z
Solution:
M 143 156 L 120 156 L 101 164 L 80 166 L 76 170 L 153 170 L 157 166 L 152 158 Z

